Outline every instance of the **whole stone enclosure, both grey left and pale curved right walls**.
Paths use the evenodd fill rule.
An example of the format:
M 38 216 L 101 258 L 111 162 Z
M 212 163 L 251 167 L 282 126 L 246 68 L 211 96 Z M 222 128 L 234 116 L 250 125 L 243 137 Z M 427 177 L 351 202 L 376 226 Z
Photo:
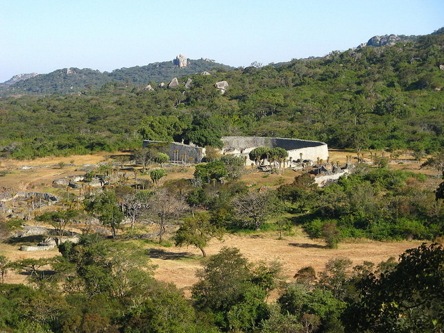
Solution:
M 291 161 L 299 160 L 301 153 L 303 160 L 316 161 L 321 159 L 326 161 L 328 158 L 328 147 L 324 142 L 282 137 L 222 137 L 221 140 L 223 142 L 223 154 L 244 155 L 247 157 L 248 164 L 253 162 L 248 159 L 248 153 L 259 146 L 284 148 L 288 151 Z M 202 162 L 205 156 L 205 148 L 194 144 L 144 140 L 144 147 L 150 145 L 161 146 L 160 150 L 167 153 L 172 162 L 199 163 Z

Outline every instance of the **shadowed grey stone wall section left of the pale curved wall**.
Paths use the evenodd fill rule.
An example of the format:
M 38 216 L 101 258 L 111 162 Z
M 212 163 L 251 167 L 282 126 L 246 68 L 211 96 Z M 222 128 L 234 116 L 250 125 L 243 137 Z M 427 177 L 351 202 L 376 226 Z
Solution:
M 180 142 L 160 142 L 144 140 L 144 147 L 155 146 L 163 153 L 168 154 L 172 162 L 187 162 L 192 157 L 191 163 L 200 163 L 205 155 L 205 148 L 191 144 L 182 144 Z

